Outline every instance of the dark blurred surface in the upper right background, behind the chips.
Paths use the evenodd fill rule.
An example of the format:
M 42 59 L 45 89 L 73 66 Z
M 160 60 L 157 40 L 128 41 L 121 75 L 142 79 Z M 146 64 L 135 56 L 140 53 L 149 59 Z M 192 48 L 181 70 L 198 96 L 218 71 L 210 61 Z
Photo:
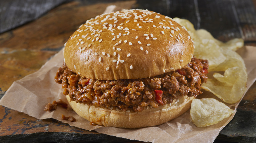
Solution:
M 187 19 L 222 41 L 256 41 L 255 7 L 255 0 L 139 0 L 136 8 Z

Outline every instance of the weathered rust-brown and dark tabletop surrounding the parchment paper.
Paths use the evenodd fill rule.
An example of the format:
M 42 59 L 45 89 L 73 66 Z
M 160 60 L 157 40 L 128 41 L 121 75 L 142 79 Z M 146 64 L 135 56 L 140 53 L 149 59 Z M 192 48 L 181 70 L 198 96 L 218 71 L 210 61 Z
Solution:
M 39 9 L 34 10 L 45 14 L 41 17 L 39 14 L 34 14 L 32 18 L 26 13 L 18 12 L 22 9 L 18 6 L 24 6 L 26 3 L 29 5 L 31 2 L 23 1 L 20 3 L 18 1 L 19 5 L 19 3 L 15 3 L 16 1 L 1 1 L 1 32 L 5 32 L 1 33 L 0 36 L 0 98 L 4 96 L 14 81 L 37 71 L 51 56 L 61 50 L 69 36 L 79 25 L 102 14 L 109 5 L 116 5 L 115 10 L 141 8 L 170 17 L 185 18 L 190 20 L 196 29 L 207 29 L 219 40 L 243 38 L 245 45 L 256 46 L 255 0 L 111 0 L 107 2 L 103 0 L 77 0 L 66 1 L 61 4 L 64 1 L 66 0 L 49 4 L 49 6 L 57 7 L 48 12 L 47 6 L 45 6 L 48 1 L 43 1 L 41 5 L 44 7 L 37 5 L 36 8 Z M 26 8 L 33 8 L 33 6 Z M 13 11 L 14 13 L 11 13 Z M 14 19 L 8 17 L 10 15 L 14 15 L 12 17 Z M 30 17 L 30 19 L 25 17 Z M 24 20 L 20 20 L 22 18 Z M 35 18 L 37 19 L 33 20 Z M 33 21 L 28 22 L 29 20 Z M 23 25 L 19 26 L 20 24 Z M 14 28 L 15 26 L 19 27 Z M 248 90 L 237 108 L 234 119 L 220 132 L 215 142 L 256 142 L 255 104 L 256 83 Z M 13 141 L 139 142 L 86 131 L 54 119 L 38 120 L 24 113 L 0 106 L 0 142 Z

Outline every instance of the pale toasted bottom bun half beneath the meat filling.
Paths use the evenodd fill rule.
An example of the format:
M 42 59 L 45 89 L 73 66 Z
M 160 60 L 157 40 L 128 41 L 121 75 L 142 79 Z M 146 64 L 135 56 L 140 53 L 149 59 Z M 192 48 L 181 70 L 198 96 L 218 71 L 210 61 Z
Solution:
M 66 96 L 70 101 L 69 95 Z M 160 125 L 186 112 L 194 97 L 179 96 L 173 103 L 158 108 L 145 108 L 142 112 L 127 112 L 119 108 L 103 108 L 70 101 L 72 109 L 84 119 L 101 126 L 141 128 Z

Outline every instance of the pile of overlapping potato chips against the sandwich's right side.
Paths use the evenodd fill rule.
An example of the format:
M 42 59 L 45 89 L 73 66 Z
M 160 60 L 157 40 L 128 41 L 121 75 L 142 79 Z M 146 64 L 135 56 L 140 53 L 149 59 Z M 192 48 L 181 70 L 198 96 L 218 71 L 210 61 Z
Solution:
M 195 30 L 188 20 L 179 18 L 174 20 L 188 30 L 194 41 L 195 57 L 208 60 L 209 72 L 217 71 L 202 85 L 202 88 L 226 103 L 238 102 L 246 91 L 247 73 L 244 60 L 235 50 L 241 48 L 244 41 L 233 39 L 224 43 L 215 39 L 206 30 Z M 224 75 L 218 73 L 220 71 L 224 71 Z

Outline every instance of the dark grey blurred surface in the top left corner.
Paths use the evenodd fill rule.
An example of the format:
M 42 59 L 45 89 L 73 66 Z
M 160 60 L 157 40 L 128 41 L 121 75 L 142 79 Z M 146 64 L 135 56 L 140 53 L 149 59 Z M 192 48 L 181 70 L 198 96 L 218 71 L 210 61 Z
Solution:
M 39 18 L 69 0 L 1 0 L 0 33 Z

